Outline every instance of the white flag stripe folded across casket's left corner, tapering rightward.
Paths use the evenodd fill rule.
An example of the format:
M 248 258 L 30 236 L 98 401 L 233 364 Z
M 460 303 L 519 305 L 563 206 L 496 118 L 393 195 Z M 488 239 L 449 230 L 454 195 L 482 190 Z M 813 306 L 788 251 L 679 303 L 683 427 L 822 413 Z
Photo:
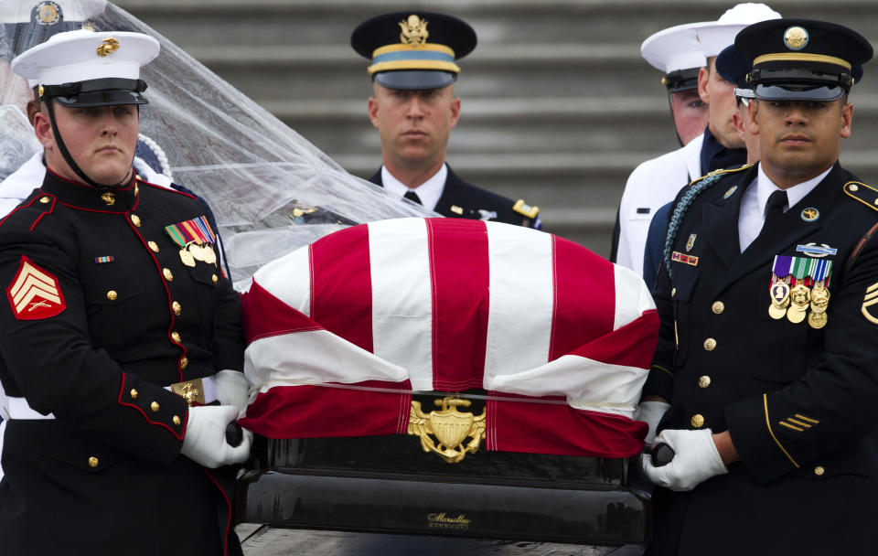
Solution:
M 279 384 L 402 382 L 409 378 L 405 369 L 327 330 L 293 332 L 253 341 L 244 350 L 244 374 L 262 391 Z

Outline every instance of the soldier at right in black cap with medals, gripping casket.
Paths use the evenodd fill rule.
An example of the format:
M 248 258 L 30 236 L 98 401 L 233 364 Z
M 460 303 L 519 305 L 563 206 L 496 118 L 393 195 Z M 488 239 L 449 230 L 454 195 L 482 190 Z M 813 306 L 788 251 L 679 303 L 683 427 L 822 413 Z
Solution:
M 667 400 L 644 470 L 648 554 L 865 554 L 878 546 L 878 211 L 838 163 L 869 42 L 847 27 L 746 27 L 755 166 L 680 192 L 659 271 Z M 656 444 L 654 444 L 656 445 Z

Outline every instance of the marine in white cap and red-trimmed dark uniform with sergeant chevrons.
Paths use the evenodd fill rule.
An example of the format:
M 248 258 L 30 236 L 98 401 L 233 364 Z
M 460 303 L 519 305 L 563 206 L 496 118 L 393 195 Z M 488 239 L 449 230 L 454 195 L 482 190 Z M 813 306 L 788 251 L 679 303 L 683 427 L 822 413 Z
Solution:
M 60 33 L 36 80 L 48 172 L 0 224 L 4 555 L 235 554 L 240 299 L 198 200 L 132 170 L 139 33 Z

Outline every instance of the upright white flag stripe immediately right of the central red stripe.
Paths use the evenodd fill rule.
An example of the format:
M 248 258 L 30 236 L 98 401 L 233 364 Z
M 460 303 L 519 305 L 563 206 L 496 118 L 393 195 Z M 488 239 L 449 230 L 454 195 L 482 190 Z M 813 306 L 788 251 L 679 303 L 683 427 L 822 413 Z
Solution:
M 487 222 L 490 267 L 485 384 L 549 360 L 554 309 L 551 235 Z

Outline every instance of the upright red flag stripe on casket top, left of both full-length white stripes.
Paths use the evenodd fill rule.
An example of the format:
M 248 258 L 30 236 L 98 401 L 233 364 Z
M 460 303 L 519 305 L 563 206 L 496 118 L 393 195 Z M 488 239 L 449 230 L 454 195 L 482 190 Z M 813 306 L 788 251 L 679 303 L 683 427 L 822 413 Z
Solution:
M 311 268 L 311 318 L 336 336 L 372 351 L 369 227 L 360 224 L 313 243 Z

